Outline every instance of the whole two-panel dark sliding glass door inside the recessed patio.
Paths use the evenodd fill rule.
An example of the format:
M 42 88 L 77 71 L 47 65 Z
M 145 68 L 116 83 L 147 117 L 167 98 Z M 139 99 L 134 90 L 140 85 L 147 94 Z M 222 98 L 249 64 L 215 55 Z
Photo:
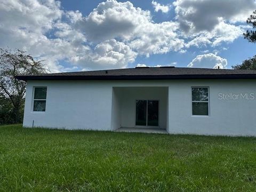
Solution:
M 136 126 L 158 126 L 158 101 L 136 100 Z

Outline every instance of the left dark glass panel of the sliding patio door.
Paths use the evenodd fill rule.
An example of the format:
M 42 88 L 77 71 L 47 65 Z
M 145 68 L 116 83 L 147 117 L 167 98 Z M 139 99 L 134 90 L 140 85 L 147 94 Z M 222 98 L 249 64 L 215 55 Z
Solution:
M 136 101 L 136 122 L 135 125 L 146 126 L 147 125 L 147 101 Z

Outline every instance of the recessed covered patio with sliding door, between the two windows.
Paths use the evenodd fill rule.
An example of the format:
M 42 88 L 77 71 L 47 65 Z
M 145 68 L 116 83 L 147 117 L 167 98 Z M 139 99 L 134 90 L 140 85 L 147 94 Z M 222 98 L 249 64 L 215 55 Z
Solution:
M 113 87 L 111 130 L 167 133 L 168 87 Z

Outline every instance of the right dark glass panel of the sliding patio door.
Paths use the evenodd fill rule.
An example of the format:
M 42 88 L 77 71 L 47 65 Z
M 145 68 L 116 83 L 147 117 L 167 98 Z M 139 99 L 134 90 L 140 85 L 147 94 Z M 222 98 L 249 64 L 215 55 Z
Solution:
M 158 101 L 148 101 L 148 126 L 158 126 Z

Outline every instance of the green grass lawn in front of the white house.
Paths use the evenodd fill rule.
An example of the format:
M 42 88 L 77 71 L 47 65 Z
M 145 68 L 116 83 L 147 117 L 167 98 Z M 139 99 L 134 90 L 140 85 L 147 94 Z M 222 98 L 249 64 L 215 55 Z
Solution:
M 0 126 L 0 191 L 220 190 L 256 190 L 256 138 Z

